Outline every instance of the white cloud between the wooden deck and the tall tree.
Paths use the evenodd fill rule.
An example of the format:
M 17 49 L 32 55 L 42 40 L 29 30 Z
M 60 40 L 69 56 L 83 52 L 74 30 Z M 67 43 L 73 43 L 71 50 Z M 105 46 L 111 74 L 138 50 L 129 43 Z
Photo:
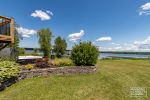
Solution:
M 22 37 L 25 37 L 25 38 L 29 38 L 31 35 L 34 35 L 37 33 L 36 30 L 27 29 L 27 28 L 23 28 L 23 27 L 18 27 L 18 28 L 16 28 L 16 30 Z

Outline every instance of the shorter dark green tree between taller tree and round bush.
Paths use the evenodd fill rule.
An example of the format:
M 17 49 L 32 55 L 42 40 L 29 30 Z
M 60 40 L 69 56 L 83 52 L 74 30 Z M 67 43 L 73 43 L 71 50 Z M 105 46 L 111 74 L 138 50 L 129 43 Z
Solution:
M 62 57 L 62 55 L 65 53 L 66 48 L 67 48 L 66 40 L 58 36 L 55 39 L 55 45 L 54 45 L 54 52 L 56 53 L 56 56 L 58 58 Z

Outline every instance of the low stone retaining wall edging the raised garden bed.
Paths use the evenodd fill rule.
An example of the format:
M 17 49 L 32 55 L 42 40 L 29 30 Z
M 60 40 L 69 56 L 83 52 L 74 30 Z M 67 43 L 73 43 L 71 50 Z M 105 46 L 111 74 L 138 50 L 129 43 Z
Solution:
M 65 74 L 88 74 L 97 72 L 96 66 L 84 66 L 84 67 L 58 67 L 58 68 L 43 68 L 24 70 L 19 73 L 19 80 L 32 77 L 48 76 L 48 75 L 65 75 Z

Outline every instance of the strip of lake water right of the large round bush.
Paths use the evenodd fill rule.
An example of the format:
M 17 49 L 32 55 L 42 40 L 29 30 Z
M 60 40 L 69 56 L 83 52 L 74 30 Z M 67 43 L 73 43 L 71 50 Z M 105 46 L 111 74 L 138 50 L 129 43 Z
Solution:
M 109 58 L 109 57 L 150 58 L 150 55 L 100 53 L 100 58 Z

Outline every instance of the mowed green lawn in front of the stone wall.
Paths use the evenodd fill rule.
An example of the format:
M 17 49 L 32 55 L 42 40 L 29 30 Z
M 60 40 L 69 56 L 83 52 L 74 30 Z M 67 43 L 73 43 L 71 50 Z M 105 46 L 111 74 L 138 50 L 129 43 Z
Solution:
M 26 79 L 0 92 L 0 100 L 150 100 L 150 60 L 100 60 L 95 74 Z M 147 97 L 131 97 L 146 87 Z

